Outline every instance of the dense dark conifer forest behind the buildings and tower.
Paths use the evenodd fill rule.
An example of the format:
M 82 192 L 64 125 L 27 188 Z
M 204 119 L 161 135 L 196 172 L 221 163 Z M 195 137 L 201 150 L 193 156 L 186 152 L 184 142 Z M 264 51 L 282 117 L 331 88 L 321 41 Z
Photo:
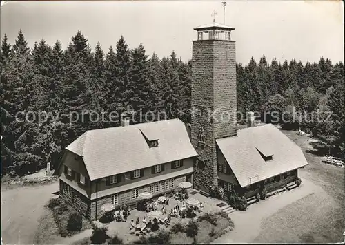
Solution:
M 14 43 L 5 34 L 1 174 L 33 173 L 47 162 L 55 169 L 67 145 L 87 130 L 119 126 L 124 111 L 142 111 L 136 120 L 147 111 L 165 111 L 166 119 L 190 123 L 192 67 L 193 60 L 184 62 L 174 51 L 158 57 L 139 43 L 130 49 L 124 36 L 103 50 L 100 43 L 90 47 L 78 31 L 63 50 L 59 41 L 51 47 L 43 39 L 29 47 L 21 30 Z M 71 124 L 71 111 L 83 120 Z M 110 111 L 116 112 L 111 121 Z M 311 133 L 320 153 L 344 157 L 344 64 L 328 58 L 279 63 L 265 56 L 237 63 L 237 111 L 277 111 L 280 118 L 292 117 L 284 111 L 307 114 L 309 120 L 274 123 Z M 270 114 L 259 119 L 272 120 Z

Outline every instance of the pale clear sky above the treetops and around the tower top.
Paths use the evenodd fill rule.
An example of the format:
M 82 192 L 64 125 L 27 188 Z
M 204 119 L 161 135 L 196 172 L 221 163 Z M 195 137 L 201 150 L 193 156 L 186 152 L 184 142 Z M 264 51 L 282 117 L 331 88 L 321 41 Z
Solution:
M 264 54 L 268 61 L 295 58 L 344 62 L 344 3 L 342 1 L 226 1 L 225 24 L 235 28 L 236 60 L 248 63 Z M 193 28 L 223 23 L 221 1 L 6 1 L 1 2 L 1 38 L 14 43 L 23 30 L 30 47 L 42 38 L 57 39 L 65 48 L 77 30 L 91 47 L 104 52 L 121 35 L 130 48 L 142 43 L 146 53 L 161 58 L 175 50 L 188 61 Z

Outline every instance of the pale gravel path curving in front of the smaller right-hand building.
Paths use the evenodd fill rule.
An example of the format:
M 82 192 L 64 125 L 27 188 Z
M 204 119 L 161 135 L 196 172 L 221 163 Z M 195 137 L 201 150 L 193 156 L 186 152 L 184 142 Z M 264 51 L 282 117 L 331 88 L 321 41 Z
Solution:
M 324 198 L 320 201 L 318 198 L 310 198 L 313 196 Z M 297 217 L 311 217 L 310 211 L 306 213 L 306 210 L 313 210 L 319 206 L 325 200 L 325 197 L 326 193 L 321 187 L 306 179 L 302 179 L 302 185 L 297 187 L 297 189 L 285 191 L 284 193 L 273 195 L 266 200 L 261 200 L 251 205 L 246 211 L 230 213 L 230 217 L 235 224 L 234 230 L 215 239 L 212 243 L 275 242 L 272 241 L 272 237 L 277 237 L 277 231 L 281 231 L 285 235 L 284 237 L 282 236 L 285 240 L 280 239 L 277 242 L 293 242 L 288 238 L 295 236 L 296 234 L 294 233 L 301 226 L 297 226 L 297 230 L 292 229 L 290 231 L 290 225 L 287 225 L 287 223 L 296 215 Z M 308 204 L 306 204 L 306 200 L 309 200 Z M 298 205 L 298 203 L 302 205 Z M 324 208 L 325 205 L 326 203 L 319 209 Z M 303 206 L 303 208 L 299 209 L 300 206 Z M 292 207 L 294 208 L 292 209 Z M 324 215 L 322 212 L 320 213 Z M 311 219 L 314 219 L 314 217 L 312 216 Z M 279 227 L 282 227 L 282 229 Z

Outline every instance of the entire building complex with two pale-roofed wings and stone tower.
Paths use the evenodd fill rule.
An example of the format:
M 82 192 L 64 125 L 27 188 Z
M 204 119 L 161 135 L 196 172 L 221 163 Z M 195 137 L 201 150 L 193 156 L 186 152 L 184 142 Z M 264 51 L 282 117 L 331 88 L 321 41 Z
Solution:
M 294 182 L 308 164 L 279 129 L 253 127 L 253 113 L 237 130 L 235 28 L 195 30 L 190 135 L 179 119 L 130 125 L 123 117 L 120 127 L 86 131 L 66 147 L 59 193 L 90 220 L 103 204 L 135 204 L 141 192 L 161 195 L 184 181 L 201 193 L 219 186 L 250 198 Z

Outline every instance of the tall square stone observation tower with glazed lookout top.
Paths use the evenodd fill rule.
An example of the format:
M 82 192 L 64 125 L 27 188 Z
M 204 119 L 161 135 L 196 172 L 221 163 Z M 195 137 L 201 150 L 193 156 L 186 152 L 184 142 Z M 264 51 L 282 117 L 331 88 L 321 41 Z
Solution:
M 199 158 L 193 182 L 209 193 L 218 182 L 215 140 L 236 135 L 235 28 L 213 22 L 194 30 L 191 142 Z

